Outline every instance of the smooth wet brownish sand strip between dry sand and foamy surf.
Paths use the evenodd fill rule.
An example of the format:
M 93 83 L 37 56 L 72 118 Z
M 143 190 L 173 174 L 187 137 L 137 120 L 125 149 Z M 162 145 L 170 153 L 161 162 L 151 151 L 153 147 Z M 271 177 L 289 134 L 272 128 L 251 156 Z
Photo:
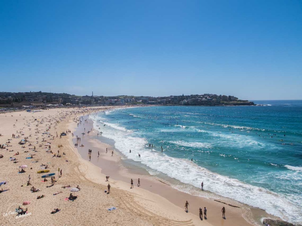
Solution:
M 208 212 L 207 221 L 213 225 L 220 225 L 220 224 L 229 225 L 227 221 L 220 222 L 220 220 L 217 219 L 217 215 L 220 214 L 221 207 L 223 205 L 225 205 L 220 202 L 227 202 L 228 204 L 230 204 L 232 206 L 240 207 L 240 210 L 238 210 L 239 208 L 232 207 L 232 206 L 227 206 L 226 208 L 228 209 L 229 218 L 231 217 L 233 219 L 236 219 L 236 222 L 240 221 L 242 225 L 255 225 L 255 224 L 262 225 L 263 218 L 279 219 L 278 217 L 269 215 L 262 209 L 254 208 L 254 207 L 248 206 L 246 204 L 237 202 L 237 201 L 229 199 L 229 198 L 224 198 L 224 197 L 220 196 L 218 199 L 213 200 L 213 199 L 208 199 L 205 197 L 192 195 L 192 194 L 188 194 L 183 191 L 177 190 L 177 189 L 173 188 L 172 186 L 170 186 L 171 183 L 169 181 L 166 181 L 162 178 L 158 178 L 155 176 L 151 176 L 148 173 L 148 171 L 146 169 L 144 169 L 143 167 L 137 168 L 136 166 L 131 165 L 131 163 L 129 164 L 130 166 L 125 167 L 124 166 L 125 161 L 123 160 L 123 156 L 120 152 L 119 152 L 118 156 L 115 156 L 116 152 L 114 152 L 114 157 L 113 157 L 114 160 L 111 158 L 111 151 L 110 151 L 110 153 L 108 151 L 107 156 L 103 155 L 103 152 L 100 153 L 101 159 L 95 160 L 95 157 L 97 155 L 94 155 L 94 154 L 97 154 L 98 148 L 100 148 L 101 146 L 103 146 L 103 148 L 104 147 L 107 147 L 107 148 L 110 147 L 111 149 L 115 149 L 115 148 L 110 146 L 109 144 L 101 143 L 101 141 L 94 139 L 94 136 L 97 135 L 97 130 L 93 129 L 93 120 L 89 117 L 87 117 L 87 119 L 88 119 L 87 120 L 88 124 L 85 124 L 85 125 L 87 125 L 86 127 L 88 127 L 88 128 L 92 128 L 92 132 L 89 133 L 89 136 L 87 136 L 87 140 L 83 139 L 83 142 L 85 143 L 85 147 L 82 147 L 82 149 L 85 149 L 85 151 L 80 150 L 79 153 L 83 159 L 88 160 L 88 154 L 85 154 L 85 152 L 88 153 L 88 149 L 92 149 L 93 150 L 92 151 L 92 153 L 93 153 L 92 161 L 91 161 L 92 164 L 101 168 L 102 173 L 111 176 L 115 180 L 120 180 L 120 181 L 123 181 L 130 185 L 130 179 L 132 177 L 136 178 L 134 180 L 135 182 L 137 181 L 137 178 L 140 178 L 141 184 L 142 184 L 142 181 L 144 181 L 145 184 L 148 184 L 148 185 L 146 185 L 144 187 L 140 187 L 140 188 L 143 188 L 150 192 L 159 194 L 160 196 L 164 197 L 168 201 L 172 202 L 173 204 L 175 204 L 181 208 L 183 208 L 183 205 L 184 205 L 183 202 L 185 202 L 186 199 L 194 200 L 191 202 L 189 201 L 189 203 L 191 203 L 190 204 L 191 207 L 189 207 L 189 208 L 190 209 L 194 208 L 191 211 L 191 213 L 193 213 L 196 216 L 198 216 L 199 206 L 202 206 L 202 208 L 204 208 L 204 206 L 206 206 L 208 211 L 209 211 L 209 206 L 210 206 L 212 213 L 210 214 L 210 211 Z M 77 130 L 80 130 L 80 128 L 77 128 Z M 79 132 L 81 132 L 81 131 L 79 131 Z M 79 132 L 76 132 L 76 133 L 79 133 Z M 86 134 L 84 135 L 84 137 L 85 136 L 86 136 Z M 105 138 L 105 140 L 106 139 L 108 139 L 108 138 Z M 79 147 L 78 147 L 78 149 L 79 149 Z M 108 150 L 109 150 L 109 148 L 108 148 Z M 110 155 L 108 155 L 108 154 L 110 154 Z M 113 165 L 113 163 L 114 163 L 114 165 Z M 144 172 L 144 171 L 146 171 L 146 172 Z M 143 178 L 143 180 L 142 180 L 142 178 Z M 135 182 L 134 182 L 134 184 L 135 184 Z M 207 192 L 207 191 L 204 191 L 204 192 Z M 208 192 L 208 193 L 210 193 L 210 192 Z M 214 194 L 214 195 L 218 196 L 216 194 Z M 175 197 L 178 197 L 178 198 L 175 198 Z M 202 204 L 200 204 L 200 203 L 202 203 Z M 214 208 L 212 208 L 212 207 L 214 207 Z M 213 209 L 215 209 L 215 210 L 213 210 Z M 244 217 L 242 215 L 244 215 Z M 209 218 L 209 216 L 210 216 L 210 218 Z M 216 218 L 216 220 L 213 220 L 213 218 Z M 230 225 L 232 225 L 232 223 Z

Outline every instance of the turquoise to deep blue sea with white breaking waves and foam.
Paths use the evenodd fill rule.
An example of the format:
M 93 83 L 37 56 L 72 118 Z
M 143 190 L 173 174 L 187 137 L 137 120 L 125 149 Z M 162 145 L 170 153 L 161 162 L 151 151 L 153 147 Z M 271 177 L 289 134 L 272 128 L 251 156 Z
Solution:
M 203 181 L 207 191 L 302 224 L 302 101 L 254 102 L 123 108 L 91 118 L 150 174 L 188 187 Z

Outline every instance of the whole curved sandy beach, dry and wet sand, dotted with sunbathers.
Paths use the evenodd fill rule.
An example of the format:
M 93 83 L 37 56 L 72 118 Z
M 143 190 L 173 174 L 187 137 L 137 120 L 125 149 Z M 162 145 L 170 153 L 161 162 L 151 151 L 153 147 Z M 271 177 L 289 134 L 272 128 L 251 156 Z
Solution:
M 0 114 L 0 144 L 4 145 L 0 149 L 3 155 L 0 182 L 5 181 L 0 190 L 6 190 L 0 193 L 1 225 L 229 226 L 261 225 L 262 218 L 278 219 L 261 209 L 230 199 L 217 201 L 232 206 L 180 192 L 169 182 L 147 172 L 124 167 L 118 151 L 93 139 L 98 132 L 87 115 L 102 110 L 105 108 L 56 108 Z M 66 136 L 60 136 L 62 132 L 66 132 Z M 77 136 L 81 141 L 76 139 Z M 23 145 L 19 144 L 22 139 L 26 140 Z M 88 149 L 92 149 L 90 161 Z M 29 159 L 31 156 L 33 158 Z M 22 165 L 27 167 L 24 173 L 19 173 Z M 37 173 L 41 170 L 49 172 Z M 62 176 L 59 177 L 61 170 Z M 47 177 L 46 182 L 41 178 L 49 173 L 55 173 L 54 185 L 51 177 Z M 110 176 L 109 181 L 106 176 Z M 131 179 L 133 188 L 130 188 Z M 28 181 L 30 185 L 27 186 Z M 108 183 L 110 193 L 105 192 Z M 33 186 L 40 191 L 31 192 Z M 77 186 L 79 191 L 70 191 Z M 78 197 L 69 200 L 70 193 Z M 42 195 L 43 198 L 37 199 Z M 186 200 L 189 202 L 188 212 L 185 212 Z M 26 201 L 30 204 L 23 205 Z M 23 217 L 14 213 L 19 206 L 24 210 L 27 208 Z M 222 218 L 223 206 L 226 207 L 226 219 Z M 207 208 L 207 219 L 203 217 L 201 221 L 199 207 Z M 51 214 L 54 209 L 60 211 Z

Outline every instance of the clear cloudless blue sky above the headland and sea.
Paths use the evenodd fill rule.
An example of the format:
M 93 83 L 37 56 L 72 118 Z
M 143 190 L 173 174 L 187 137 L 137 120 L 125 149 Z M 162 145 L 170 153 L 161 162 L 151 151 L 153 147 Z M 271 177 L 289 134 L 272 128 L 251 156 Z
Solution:
M 302 99 L 302 1 L 0 0 L 0 91 Z

